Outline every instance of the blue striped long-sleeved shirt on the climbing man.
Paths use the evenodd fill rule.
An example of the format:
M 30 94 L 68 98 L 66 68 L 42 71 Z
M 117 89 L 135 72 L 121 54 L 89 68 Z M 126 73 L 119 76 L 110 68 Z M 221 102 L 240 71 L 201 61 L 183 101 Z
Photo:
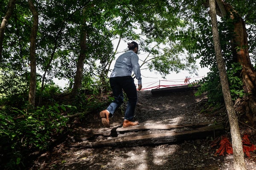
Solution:
M 141 85 L 139 57 L 134 53 L 134 51 L 130 50 L 116 59 L 115 66 L 110 77 L 131 76 L 132 71 L 138 80 L 138 84 Z

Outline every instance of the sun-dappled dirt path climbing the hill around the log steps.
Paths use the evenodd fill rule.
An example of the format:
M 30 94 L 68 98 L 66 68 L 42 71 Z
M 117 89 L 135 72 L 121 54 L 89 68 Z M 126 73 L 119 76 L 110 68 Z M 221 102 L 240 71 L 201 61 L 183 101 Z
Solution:
M 135 121 L 140 125 L 177 125 L 200 122 L 219 122 L 223 117 L 210 117 L 200 113 L 206 96 L 195 97 L 195 91 L 177 92 L 161 96 L 150 91 L 138 92 Z M 122 124 L 122 113 L 111 119 L 111 127 Z M 88 117 L 88 128 L 101 128 L 98 113 Z M 178 130 L 172 130 L 178 132 Z M 161 130 L 140 133 L 163 133 Z M 127 135 L 127 134 L 119 134 Z M 98 136 L 95 141 L 113 137 Z M 69 147 L 69 138 L 42 154 L 31 170 L 232 170 L 233 156 L 214 156 L 216 149 L 211 139 L 184 141 L 179 144 L 137 147 L 85 148 Z M 76 142 L 78 143 L 78 142 Z M 81 142 L 82 143 L 82 142 Z M 256 170 L 256 158 L 245 159 L 248 170 Z

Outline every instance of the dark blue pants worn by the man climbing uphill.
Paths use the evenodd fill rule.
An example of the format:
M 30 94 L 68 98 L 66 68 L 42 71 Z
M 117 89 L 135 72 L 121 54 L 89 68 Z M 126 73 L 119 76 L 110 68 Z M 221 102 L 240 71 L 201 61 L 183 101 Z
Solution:
M 134 79 L 131 76 L 111 77 L 109 82 L 115 100 L 108 106 L 107 110 L 113 115 L 116 109 L 122 105 L 124 101 L 123 91 L 125 91 L 125 94 L 128 97 L 125 119 L 131 121 L 134 117 L 134 111 L 137 104 L 137 89 L 134 84 Z

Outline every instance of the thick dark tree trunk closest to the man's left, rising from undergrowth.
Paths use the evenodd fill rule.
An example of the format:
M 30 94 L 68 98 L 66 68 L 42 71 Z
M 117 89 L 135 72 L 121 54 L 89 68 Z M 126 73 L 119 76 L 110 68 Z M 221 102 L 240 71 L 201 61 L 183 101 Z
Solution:
M 72 96 L 76 95 L 78 93 L 78 91 L 80 90 L 82 78 L 83 78 L 84 59 L 86 58 L 86 38 L 87 38 L 87 31 L 86 31 L 85 23 L 86 22 L 84 19 L 84 22 L 83 22 L 82 28 L 81 28 L 80 54 L 79 54 L 77 65 L 76 65 L 76 76 L 75 76 L 74 86 L 72 89 Z

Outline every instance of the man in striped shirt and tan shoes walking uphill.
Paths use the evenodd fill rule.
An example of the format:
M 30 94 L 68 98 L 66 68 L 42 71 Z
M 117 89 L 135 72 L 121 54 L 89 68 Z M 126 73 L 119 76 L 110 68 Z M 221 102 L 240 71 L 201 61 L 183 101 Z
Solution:
M 132 71 L 134 72 L 136 79 L 138 79 L 138 90 L 141 90 L 142 88 L 139 57 L 137 55 L 139 45 L 134 41 L 131 43 L 129 42 L 128 49 L 129 51 L 116 59 L 114 69 L 109 79 L 114 95 L 114 101 L 106 110 L 99 113 L 102 119 L 102 124 L 105 127 L 110 127 L 109 118 L 112 117 L 116 109 L 122 105 L 124 100 L 123 91 L 128 97 L 128 105 L 125 110 L 123 127 L 136 126 L 139 124 L 138 122 L 131 122 L 137 104 L 137 89 L 134 84 L 134 79 L 131 77 Z

